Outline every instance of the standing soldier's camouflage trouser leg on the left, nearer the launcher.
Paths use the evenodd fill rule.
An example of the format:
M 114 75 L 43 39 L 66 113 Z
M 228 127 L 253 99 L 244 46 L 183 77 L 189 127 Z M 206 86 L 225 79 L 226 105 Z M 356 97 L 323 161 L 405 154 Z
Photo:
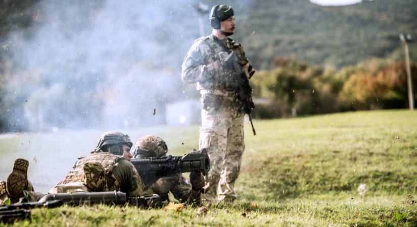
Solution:
M 230 116 L 226 111 L 202 109 L 202 127 L 200 129 L 200 149 L 206 148 L 211 167 L 205 180 L 203 199 L 215 201 L 217 187 L 223 168 L 227 146 L 227 131 L 230 127 Z

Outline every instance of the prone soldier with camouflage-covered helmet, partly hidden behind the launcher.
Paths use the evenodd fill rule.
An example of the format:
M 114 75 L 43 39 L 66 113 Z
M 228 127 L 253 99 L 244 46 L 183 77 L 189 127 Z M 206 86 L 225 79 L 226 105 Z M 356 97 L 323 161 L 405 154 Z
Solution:
M 136 141 L 133 157 L 158 157 L 165 155 L 167 152 L 168 147 L 164 140 L 160 137 L 149 135 Z M 143 177 L 145 179 L 145 176 Z M 159 179 L 153 178 L 153 176 L 146 177 L 150 179 L 146 181 L 150 182 L 148 194 L 156 193 L 161 197 L 162 201 L 169 202 L 168 193 L 171 192 L 180 203 L 199 204 L 201 202 L 201 191 L 204 186 L 204 177 L 201 173 L 190 174 L 191 187 L 186 183 L 187 179 L 181 174 Z

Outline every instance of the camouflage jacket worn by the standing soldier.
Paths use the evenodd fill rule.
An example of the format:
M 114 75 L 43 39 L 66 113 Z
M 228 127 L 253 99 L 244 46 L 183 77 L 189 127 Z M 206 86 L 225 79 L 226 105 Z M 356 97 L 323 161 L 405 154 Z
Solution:
M 230 74 L 224 63 L 228 52 L 215 39 L 211 34 L 194 42 L 182 63 L 181 79 L 186 83 L 197 83 L 197 90 L 202 95 L 234 96 L 235 92 L 225 86 L 225 78 Z M 226 38 L 225 46 L 237 54 L 242 69 L 249 63 L 241 44 Z M 215 61 L 220 63 L 218 72 L 214 68 Z

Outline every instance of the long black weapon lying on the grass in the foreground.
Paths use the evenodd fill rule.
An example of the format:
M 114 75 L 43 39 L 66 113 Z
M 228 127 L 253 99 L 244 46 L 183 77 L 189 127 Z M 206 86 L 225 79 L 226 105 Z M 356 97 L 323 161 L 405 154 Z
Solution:
M 0 222 L 8 223 L 16 219 L 30 218 L 32 208 L 54 208 L 63 204 L 126 204 L 139 207 L 158 207 L 162 205 L 159 195 L 153 194 L 141 197 L 126 197 L 123 192 L 74 192 L 57 193 L 43 196 L 37 202 L 24 202 L 0 206 Z

